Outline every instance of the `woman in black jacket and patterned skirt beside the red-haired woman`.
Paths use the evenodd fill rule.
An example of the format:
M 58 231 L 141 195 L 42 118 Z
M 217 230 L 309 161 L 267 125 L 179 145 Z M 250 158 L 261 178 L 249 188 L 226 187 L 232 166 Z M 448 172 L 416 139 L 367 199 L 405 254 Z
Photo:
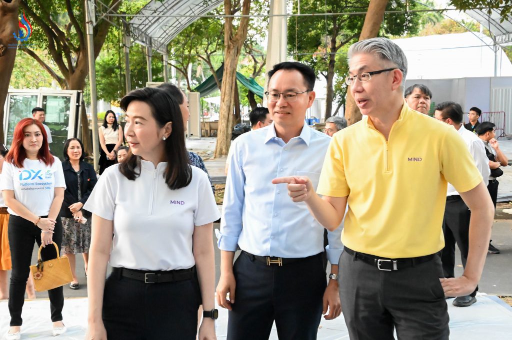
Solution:
M 60 209 L 63 237 L 61 254 L 69 258 L 73 281 L 71 289 L 78 289 L 75 254 L 82 254 L 87 275 L 89 244 L 91 243 L 91 214 L 82 209 L 97 182 L 92 165 L 83 161 L 83 144 L 78 138 L 71 138 L 64 144 L 62 170 L 66 179 L 64 201 Z

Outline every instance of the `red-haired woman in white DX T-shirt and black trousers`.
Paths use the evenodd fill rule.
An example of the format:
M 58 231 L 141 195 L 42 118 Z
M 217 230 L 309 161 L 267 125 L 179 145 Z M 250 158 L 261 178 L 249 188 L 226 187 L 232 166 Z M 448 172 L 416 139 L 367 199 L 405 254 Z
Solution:
M 66 182 L 62 164 L 48 148 L 45 128 L 32 118 L 22 119 L 14 128 L 13 141 L 2 169 L 2 195 L 8 207 L 9 247 L 11 249 L 11 284 L 9 312 L 11 323 L 6 339 L 20 338 L 25 285 L 29 275 L 34 242 L 44 246 L 42 260 L 57 257 L 55 242 L 60 248 L 62 222 L 58 216 Z M 66 331 L 62 323 L 64 297 L 62 287 L 50 289 L 53 335 Z

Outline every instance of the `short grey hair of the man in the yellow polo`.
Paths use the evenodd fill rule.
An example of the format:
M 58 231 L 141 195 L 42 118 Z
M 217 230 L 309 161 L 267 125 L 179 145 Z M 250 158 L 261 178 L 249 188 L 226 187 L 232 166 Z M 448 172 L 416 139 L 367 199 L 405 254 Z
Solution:
M 402 49 L 393 41 L 387 38 L 371 38 L 358 41 L 349 49 L 348 60 L 357 53 L 375 54 L 380 60 L 392 62 L 397 69 L 403 73 L 402 85 L 403 89 L 406 88 L 407 76 L 407 58 Z

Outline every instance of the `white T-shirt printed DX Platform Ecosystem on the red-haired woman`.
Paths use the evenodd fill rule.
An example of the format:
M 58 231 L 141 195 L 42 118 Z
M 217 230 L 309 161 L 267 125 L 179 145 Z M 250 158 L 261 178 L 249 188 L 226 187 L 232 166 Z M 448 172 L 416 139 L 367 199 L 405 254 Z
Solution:
M 54 161 L 51 166 L 25 158 L 23 168 L 8 162 L 4 162 L 2 168 L 2 190 L 13 190 L 16 200 L 37 216 L 47 216 L 50 212 L 55 188 L 66 189 L 62 163 L 59 158 L 52 157 Z M 7 211 L 17 216 L 11 208 Z

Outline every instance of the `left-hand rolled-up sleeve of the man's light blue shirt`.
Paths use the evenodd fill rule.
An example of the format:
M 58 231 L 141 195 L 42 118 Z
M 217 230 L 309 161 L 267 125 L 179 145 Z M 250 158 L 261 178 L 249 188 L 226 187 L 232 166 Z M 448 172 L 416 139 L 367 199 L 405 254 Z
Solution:
M 242 211 L 244 208 L 245 175 L 240 159 L 237 141 L 233 141 L 232 157 L 226 177 L 226 188 L 222 204 L 220 232 L 217 245 L 220 250 L 234 252 L 238 248 L 238 238 L 242 232 Z

